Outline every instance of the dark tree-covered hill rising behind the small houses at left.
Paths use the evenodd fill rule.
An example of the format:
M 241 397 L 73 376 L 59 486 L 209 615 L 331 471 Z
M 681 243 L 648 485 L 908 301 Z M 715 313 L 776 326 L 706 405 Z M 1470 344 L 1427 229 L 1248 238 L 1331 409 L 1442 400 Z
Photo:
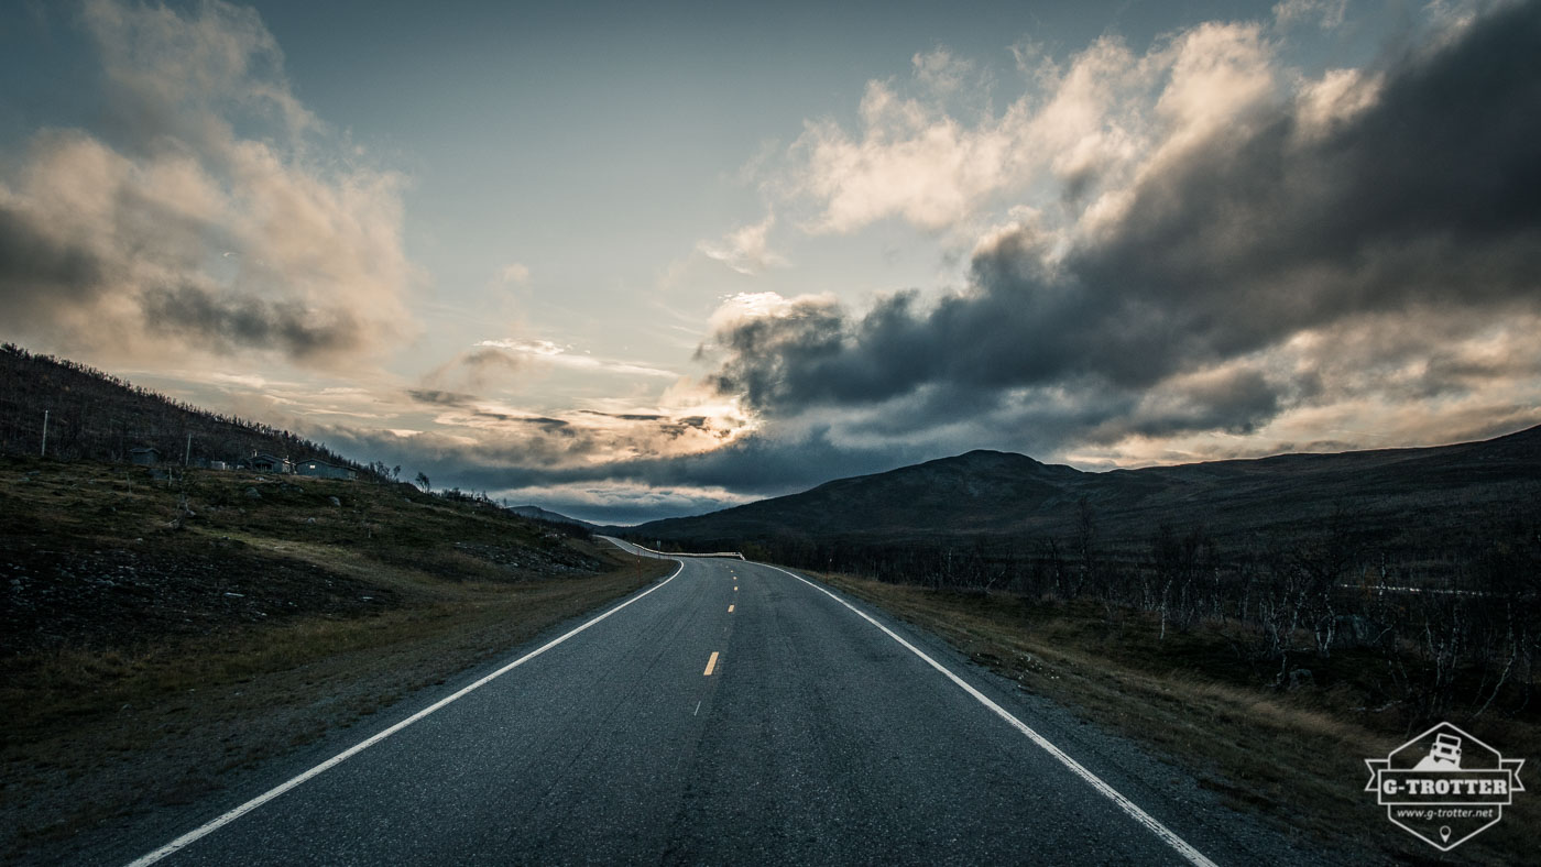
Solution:
M 156 448 L 160 460 L 194 467 L 236 462 L 265 451 L 276 457 L 359 467 L 288 431 L 220 416 L 173 400 L 82 363 L 0 346 L 0 454 L 39 454 L 48 413 L 48 456 L 66 460 L 128 460 Z M 191 454 L 190 440 L 191 436 Z

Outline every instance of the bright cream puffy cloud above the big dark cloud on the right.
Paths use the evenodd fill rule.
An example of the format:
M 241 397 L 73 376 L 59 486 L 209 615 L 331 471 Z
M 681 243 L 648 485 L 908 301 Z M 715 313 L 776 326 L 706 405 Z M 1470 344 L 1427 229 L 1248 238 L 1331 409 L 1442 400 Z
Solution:
M 1045 209 L 1063 199 L 1071 223 L 1079 211 L 1105 222 L 1143 171 L 1244 123 L 1279 91 L 1274 45 L 1259 23 L 1197 25 L 1143 55 L 1111 35 L 1065 63 L 1032 46 L 1014 51 L 1028 86 L 1003 111 L 954 99 L 969 89 L 968 63 L 945 49 L 917 54 L 914 94 L 872 80 L 854 131 L 806 122 L 791 177 L 770 188 L 817 205 L 803 225 L 811 233 L 897 217 L 968 234 L 1023 194 Z

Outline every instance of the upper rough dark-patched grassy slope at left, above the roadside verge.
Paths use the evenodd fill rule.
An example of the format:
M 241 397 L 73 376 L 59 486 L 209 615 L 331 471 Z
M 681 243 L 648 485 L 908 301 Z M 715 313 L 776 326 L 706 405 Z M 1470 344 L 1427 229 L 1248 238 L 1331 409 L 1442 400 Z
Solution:
M 15 457 L 0 468 L 0 568 L 12 593 L 0 653 L 362 616 L 441 591 L 385 581 L 387 567 L 453 582 L 604 567 L 555 527 L 405 484 Z

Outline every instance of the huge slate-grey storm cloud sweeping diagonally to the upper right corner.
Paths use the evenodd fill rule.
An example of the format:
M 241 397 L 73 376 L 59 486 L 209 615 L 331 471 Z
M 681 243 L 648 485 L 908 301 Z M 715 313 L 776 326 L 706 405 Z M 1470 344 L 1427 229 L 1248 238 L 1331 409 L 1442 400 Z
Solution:
M 1319 383 L 1227 370 L 1302 330 L 1538 308 L 1541 5 L 1392 63 L 1379 99 L 1325 129 L 1279 105 L 1153 172 L 1126 216 L 1053 271 L 1031 231 L 972 260 L 971 288 L 865 314 L 803 299 L 713 336 L 713 383 L 772 416 L 903 405 L 928 390 L 1009 413 L 1022 391 L 1079 394 L 1080 433 L 1248 431 Z M 971 393 L 974 393 L 971 396 Z M 934 413 L 934 414 L 926 414 Z

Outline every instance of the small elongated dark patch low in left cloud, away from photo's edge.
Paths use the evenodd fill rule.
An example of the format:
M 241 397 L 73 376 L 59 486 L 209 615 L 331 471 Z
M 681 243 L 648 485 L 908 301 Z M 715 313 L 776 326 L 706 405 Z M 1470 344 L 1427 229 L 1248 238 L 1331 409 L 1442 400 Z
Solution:
M 280 350 L 294 359 L 351 351 L 362 342 L 358 322 L 344 311 L 307 310 L 297 302 L 222 297 L 197 286 L 149 290 L 140 297 L 154 331 L 223 350 Z

